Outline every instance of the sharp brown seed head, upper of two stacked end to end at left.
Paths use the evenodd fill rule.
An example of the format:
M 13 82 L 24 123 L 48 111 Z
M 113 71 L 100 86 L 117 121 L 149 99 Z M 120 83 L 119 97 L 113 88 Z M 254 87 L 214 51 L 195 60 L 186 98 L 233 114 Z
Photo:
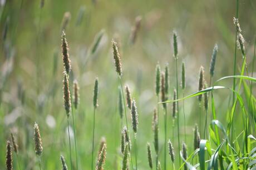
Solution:
M 63 31 L 62 32 L 62 61 L 63 61 L 64 70 L 66 71 L 67 74 L 69 74 L 71 71 L 70 54 L 68 53 L 69 50 L 70 49 L 68 48 L 66 34 Z

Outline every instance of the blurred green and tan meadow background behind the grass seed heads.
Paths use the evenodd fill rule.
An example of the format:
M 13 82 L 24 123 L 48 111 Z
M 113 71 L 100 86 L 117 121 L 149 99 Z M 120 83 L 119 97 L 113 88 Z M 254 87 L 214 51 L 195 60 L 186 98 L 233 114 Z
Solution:
M 129 84 L 132 97 L 137 101 L 139 169 L 148 169 L 146 142 L 151 142 L 152 147 L 151 119 L 157 102 L 154 91 L 157 62 L 160 63 L 161 68 L 169 63 L 169 98 L 173 98 L 175 87 L 175 61 L 171 38 L 173 31 L 175 30 L 179 36 L 180 71 L 181 62 L 184 61 L 186 65 L 185 95 L 197 91 L 200 66 L 205 67 L 205 79 L 209 83 L 210 57 L 215 43 L 218 43 L 219 51 L 214 81 L 233 74 L 235 1 L 46 0 L 42 8 L 40 3 L 39 0 L 1 1 L 0 169 L 4 169 L 6 141 L 10 138 L 11 132 L 17 138 L 19 145 L 21 168 L 37 169 L 37 158 L 33 149 L 35 121 L 41 129 L 43 169 L 60 169 L 61 154 L 66 157 L 70 166 L 66 113 L 62 101 L 61 29 L 66 12 L 69 12 L 70 17 L 65 30 L 70 47 L 72 79 L 77 79 L 80 84 L 80 105 L 75 113 L 80 169 L 88 169 L 91 166 L 92 94 L 96 77 L 99 77 L 96 150 L 100 138 L 105 136 L 107 140 L 105 168 L 120 169 L 121 123 L 117 108 L 119 79 L 112 58 L 112 38 L 116 39 L 120 46 L 124 84 Z M 131 30 L 135 26 L 137 16 L 141 16 L 141 26 L 136 41 L 131 43 Z M 239 21 L 246 41 L 249 72 L 255 72 L 252 70 L 256 34 L 255 1 L 239 2 Z M 5 30 L 7 34 L 4 38 Z M 91 54 L 95 37 L 102 31 L 104 34 L 99 47 Z M 241 61 L 242 56 L 238 51 L 237 72 Z M 232 87 L 233 81 L 229 79 L 222 83 Z M 232 93 L 230 91 L 215 93 L 217 117 L 225 124 Z M 179 97 L 181 95 L 182 93 Z M 198 105 L 196 98 L 185 101 L 189 153 L 193 152 L 193 144 L 189 143 L 193 139 L 194 124 L 198 123 Z M 162 113 L 161 110 L 159 118 L 161 148 L 164 142 Z M 168 138 L 170 138 L 173 132 L 170 104 L 168 114 Z M 130 113 L 127 116 L 131 122 Z M 239 123 L 241 120 L 235 121 Z M 176 134 L 176 130 L 174 131 Z M 237 131 L 240 132 L 239 127 Z M 182 132 L 183 128 L 181 128 Z M 182 133 L 181 139 L 183 138 Z M 176 149 L 178 145 L 176 138 L 173 141 Z M 73 161 L 74 153 L 73 150 Z M 178 155 L 177 149 L 176 154 Z M 168 168 L 170 167 L 169 164 Z M 15 161 L 14 169 L 17 169 Z

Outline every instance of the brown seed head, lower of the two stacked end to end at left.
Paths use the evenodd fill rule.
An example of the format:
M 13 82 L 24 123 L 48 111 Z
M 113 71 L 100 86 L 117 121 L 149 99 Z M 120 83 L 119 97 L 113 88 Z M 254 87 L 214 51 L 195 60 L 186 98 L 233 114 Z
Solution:
M 71 98 L 70 98 L 70 83 L 68 81 L 68 75 L 64 71 L 64 78 L 63 78 L 63 101 L 64 107 L 66 110 L 67 117 L 70 116 L 70 109 L 71 109 Z

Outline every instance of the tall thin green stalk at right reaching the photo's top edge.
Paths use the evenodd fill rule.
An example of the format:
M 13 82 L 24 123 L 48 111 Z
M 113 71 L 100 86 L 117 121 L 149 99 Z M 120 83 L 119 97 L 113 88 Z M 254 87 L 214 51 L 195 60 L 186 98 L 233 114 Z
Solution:
M 239 10 L 239 0 L 237 0 L 237 12 L 235 18 L 238 18 L 238 10 Z M 233 75 L 236 74 L 236 67 L 237 67 L 237 31 L 235 31 L 235 56 L 234 56 L 234 72 Z M 233 90 L 235 91 L 235 78 L 233 78 Z M 235 102 L 235 92 L 233 92 L 233 104 Z M 233 141 L 233 130 L 234 130 L 234 123 L 232 121 L 232 132 L 231 132 L 231 141 Z

